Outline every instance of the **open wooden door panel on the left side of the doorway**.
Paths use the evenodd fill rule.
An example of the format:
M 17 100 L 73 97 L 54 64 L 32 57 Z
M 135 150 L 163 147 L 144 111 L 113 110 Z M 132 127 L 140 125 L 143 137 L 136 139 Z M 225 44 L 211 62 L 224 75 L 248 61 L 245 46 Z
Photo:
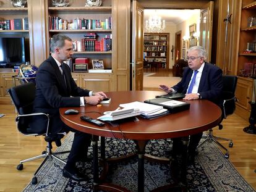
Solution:
M 143 14 L 143 7 L 132 1 L 132 90 L 143 90 Z

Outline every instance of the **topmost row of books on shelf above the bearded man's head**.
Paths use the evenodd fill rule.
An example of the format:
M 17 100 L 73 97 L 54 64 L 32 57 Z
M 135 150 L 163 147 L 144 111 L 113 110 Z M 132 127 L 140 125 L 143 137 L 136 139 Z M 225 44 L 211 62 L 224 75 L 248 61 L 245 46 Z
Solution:
M 112 17 L 100 19 L 61 19 L 58 16 L 49 16 L 49 30 L 109 30 L 112 28 Z

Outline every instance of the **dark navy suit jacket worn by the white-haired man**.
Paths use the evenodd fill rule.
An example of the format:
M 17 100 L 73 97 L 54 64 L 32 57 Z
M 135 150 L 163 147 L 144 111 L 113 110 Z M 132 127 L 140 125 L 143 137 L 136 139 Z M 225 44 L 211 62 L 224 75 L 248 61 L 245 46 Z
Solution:
M 173 89 L 179 93 L 186 93 L 192 74 L 193 70 L 189 67 L 184 69 L 182 80 L 173 86 Z M 202 99 L 208 99 L 221 106 L 222 87 L 222 70 L 213 64 L 205 62 L 198 86 L 198 93 L 200 93 Z

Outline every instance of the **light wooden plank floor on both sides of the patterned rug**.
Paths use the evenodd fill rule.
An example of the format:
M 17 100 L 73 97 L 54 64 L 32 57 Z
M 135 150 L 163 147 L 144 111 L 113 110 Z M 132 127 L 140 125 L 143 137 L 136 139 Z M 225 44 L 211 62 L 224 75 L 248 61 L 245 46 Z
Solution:
M 16 130 L 13 106 L 0 105 L 0 113 L 5 114 L 0 118 L 0 191 L 22 191 L 42 160 L 25 163 L 22 171 L 17 170 L 16 166 L 21 159 L 41 154 L 45 149 L 45 141 L 39 137 L 23 136 Z M 256 135 L 242 131 L 247 125 L 247 121 L 233 114 L 223 121 L 223 130 L 216 127 L 213 133 L 233 139 L 229 160 L 256 189 Z M 221 143 L 228 146 L 226 142 Z

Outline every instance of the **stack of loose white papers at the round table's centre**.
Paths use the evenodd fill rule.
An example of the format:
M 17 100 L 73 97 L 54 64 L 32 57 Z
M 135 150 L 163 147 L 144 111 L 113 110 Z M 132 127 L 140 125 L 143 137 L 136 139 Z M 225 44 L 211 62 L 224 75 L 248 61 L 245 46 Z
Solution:
M 163 106 L 157 106 L 154 104 L 148 104 L 148 103 L 139 102 L 139 101 L 120 104 L 119 106 L 124 108 L 137 108 L 139 109 L 141 116 L 147 119 L 152 119 L 154 117 L 168 114 L 168 110 L 163 109 Z

